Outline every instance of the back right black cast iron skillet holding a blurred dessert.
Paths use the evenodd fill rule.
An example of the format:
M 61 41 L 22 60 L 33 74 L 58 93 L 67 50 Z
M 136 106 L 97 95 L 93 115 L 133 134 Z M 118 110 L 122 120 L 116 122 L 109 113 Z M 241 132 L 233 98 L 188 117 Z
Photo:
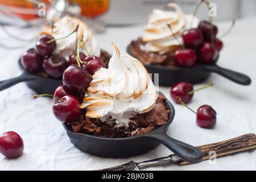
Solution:
M 129 46 L 127 47 L 127 52 L 134 56 L 129 51 Z M 134 56 L 135 57 L 135 56 Z M 144 64 L 148 73 L 159 73 L 159 85 L 162 86 L 172 86 L 181 81 L 191 82 L 192 84 L 197 84 L 207 80 L 211 72 L 218 73 L 229 80 L 236 82 L 241 85 L 250 85 L 250 77 L 243 75 L 242 73 L 234 72 L 229 69 L 221 68 L 216 64 L 217 59 L 214 64 L 196 64 L 191 68 L 168 68 L 163 65 L 153 65 Z

